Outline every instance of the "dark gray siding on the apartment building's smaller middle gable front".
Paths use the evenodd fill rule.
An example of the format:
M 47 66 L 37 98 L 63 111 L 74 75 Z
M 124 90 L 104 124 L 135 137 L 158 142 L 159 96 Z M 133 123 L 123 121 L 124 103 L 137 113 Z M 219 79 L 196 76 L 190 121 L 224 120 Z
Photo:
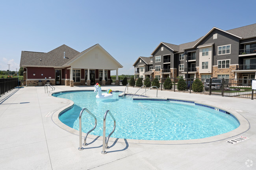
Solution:
M 161 47 L 163 47 L 163 51 L 161 51 Z M 158 47 L 158 49 L 156 49 L 156 51 L 153 53 L 153 69 L 155 68 L 155 66 L 159 66 L 161 65 L 161 68 L 163 68 L 163 56 L 164 55 L 171 55 L 171 68 L 173 66 L 173 51 L 166 47 L 165 45 L 161 44 L 161 46 Z M 161 62 L 155 62 L 156 61 L 156 56 L 161 56 Z

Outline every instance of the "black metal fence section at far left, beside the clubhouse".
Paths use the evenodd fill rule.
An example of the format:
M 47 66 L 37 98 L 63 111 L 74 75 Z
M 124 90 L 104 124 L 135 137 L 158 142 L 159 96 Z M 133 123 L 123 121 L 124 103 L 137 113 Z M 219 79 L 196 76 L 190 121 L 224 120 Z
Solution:
M 18 78 L 0 79 L 0 95 L 19 86 Z

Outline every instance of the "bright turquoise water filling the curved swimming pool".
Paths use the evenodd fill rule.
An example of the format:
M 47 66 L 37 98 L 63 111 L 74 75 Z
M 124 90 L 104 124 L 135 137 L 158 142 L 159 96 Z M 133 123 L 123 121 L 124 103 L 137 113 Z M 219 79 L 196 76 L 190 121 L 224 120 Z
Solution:
M 104 92 L 103 92 L 104 93 Z M 93 91 L 62 92 L 53 94 L 74 101 L 74 107 L 61 113 L 59 120 L 79 130 L 79 114 L 87 108 L 97 118 L 92 135 L 102 136 L 103 117 L 110 110 L 116 119 L 116 129 L 111 137 L 145 140 L 200 139 L 230 132 L 239 126 L 232 116 L 216 110 L 195 106 L 194 103 L 173 101 L 133 101 L 118 97 L 96 99 Z M 95 120 L 87 112 L 82 115 L 82 131 L 94 127 Z M 113 119 L 106 119 L 106 135 L 113 130 Z

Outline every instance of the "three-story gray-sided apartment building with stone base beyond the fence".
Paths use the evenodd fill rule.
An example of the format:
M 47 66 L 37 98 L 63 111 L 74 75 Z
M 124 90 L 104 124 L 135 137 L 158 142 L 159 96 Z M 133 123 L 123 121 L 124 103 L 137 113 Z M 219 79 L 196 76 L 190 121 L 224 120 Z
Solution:
M 140 73 L 141 67 L 145 71 Z M 134 68 L 135 77 L 147 77 L 151 71 L 155 78 L 216 77 L 245 79 L 242 83 L 248 84 L 256 79 L 256 24 L 227 31 L 213 27 L 203 37 L 180 45 L 160 42 L 150 57 L 139 57 Z

